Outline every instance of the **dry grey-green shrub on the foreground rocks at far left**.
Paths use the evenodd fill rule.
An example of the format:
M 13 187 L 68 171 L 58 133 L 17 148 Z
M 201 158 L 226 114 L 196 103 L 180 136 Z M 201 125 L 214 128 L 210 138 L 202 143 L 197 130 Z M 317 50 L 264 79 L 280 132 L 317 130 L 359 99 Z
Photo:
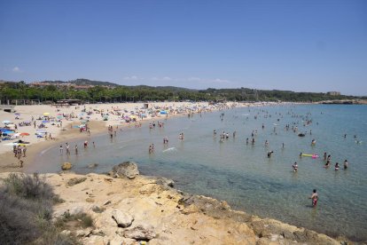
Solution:
M 1 244 L 78 243 L 51 222 L 52 205 L 61 200 L 37 174 L 10 174 L 0 186 L 0 197 Z

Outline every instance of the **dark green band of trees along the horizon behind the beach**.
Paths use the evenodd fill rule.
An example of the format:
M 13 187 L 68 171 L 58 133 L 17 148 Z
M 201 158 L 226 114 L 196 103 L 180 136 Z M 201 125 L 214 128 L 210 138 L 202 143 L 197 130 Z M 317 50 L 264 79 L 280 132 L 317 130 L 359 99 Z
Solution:
M 68 82 L 44 81 L 44 86 L 27 83 L 0 83 L 0 99 L 39 99 L 56 102 L 59 99 L 82 99 L 84 102 L 136 102 L 136 101 L 300 101 L 316 102 L 329 99 L 367 99 L 367 97 L 332 96 L 327 93 L 260 91 L 247 88 L 189 90 L 176 87 L 123 86 L 115 83 L 77 79 Z M 70 85 L 72 84 L 72 85 Z M 91 85 L 91 86 L 90 86 Z M 87 87 L 80 87 L 87 86 Z

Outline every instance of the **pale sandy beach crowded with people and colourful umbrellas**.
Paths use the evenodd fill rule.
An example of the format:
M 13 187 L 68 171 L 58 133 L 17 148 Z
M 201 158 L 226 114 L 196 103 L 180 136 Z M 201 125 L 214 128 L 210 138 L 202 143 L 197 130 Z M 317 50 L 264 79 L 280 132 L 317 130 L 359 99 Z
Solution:
M 3 137 L 0 142 L 0 172 L 23 171 L 27 169 L 27 164 L 33 162 L 35 154 L 44 148 L 63 143 L 67 139 L 90 140 L 94 135 L 107 133 L 107 126 L 110 125 L 120 128 L 131 127 L 149 120 L 159 121 L 171 116 L 247 106 L 250 104 L 226 103 L 213 106 L 207 102 L 158 102 L 149 103 L 147 108 L 144 103 L 88 104 L 69 107 L 17 106 L 14 113 L 0 111 L 1 128 L 10 125 L 9 130 L 12 131 L 7 136 L 11 139 L 5 140 Z M 25 125 L 21 126 L 22 124 Z M 85 124 L 88 124 L 89 131 L 84 130 L 85 128 L 81 131 L 81 125 Z M 43 125 L 44 127 L 39 127 Z M 15 143 L 19 140 L 27 144 Z M 14 157 L 14 145 L 26 146 L 26 157 L 22 156 L 20 159 Z M 20 168 L 20 160 L 24 168 Z

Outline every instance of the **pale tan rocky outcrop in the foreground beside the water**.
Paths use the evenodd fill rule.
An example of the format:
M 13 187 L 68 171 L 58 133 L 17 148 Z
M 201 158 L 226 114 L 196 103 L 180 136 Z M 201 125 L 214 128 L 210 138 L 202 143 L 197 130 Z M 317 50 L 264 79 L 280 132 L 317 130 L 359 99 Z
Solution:
M 157 178 L 46 177 L 65 200 L 54 207 L 54 220 L 81 212 L 93 218 L 91 228 L 63 232 L 82 244 L 340 244 L 324 234 L 232 210 L 224 201 L 183 194 L 159 185 Z M 68 186 L 75 178 L 86 179 Z M 93 203 L 86 201 L 90 198 Z

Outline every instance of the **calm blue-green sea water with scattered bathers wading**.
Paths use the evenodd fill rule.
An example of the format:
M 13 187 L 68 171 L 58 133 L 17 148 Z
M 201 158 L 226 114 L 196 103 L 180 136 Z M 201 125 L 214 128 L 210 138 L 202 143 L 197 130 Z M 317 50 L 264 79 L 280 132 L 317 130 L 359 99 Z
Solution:
M 312 123 L 304 126 L 306 120 Z M 107 134 L 90 138 L 96 148 L 82 149 L 83 140 L 69 142 L 71 149 L 78 144 L 78 155 L 73 150 L 70 156 L 59 155 L 58 146 L 45 149 L 29 171 L 59 171 L 60 164 L 68 161 L 76 172 L 106 172 L 114 164 L 135 161 L 145 175 L 172 178 L 176 188 L 226 200 L 233 209 L 332 236 L 367 240 L 366 106 L 246 107 L 160 121 L 165 123 L 164 128 L 149 130 L 144 124 L 142 128 L 119 131 L 113 140 Z M 285 130 L 286 124 L 290 124 L 290 130 Z M 292 126 L 307 132 L 306 136 L 298 137 Z M 217 131 L 216 137 L 213 130 Z M 221 143 L 219 134 L 223 130 L 230 133 L 230 138 Z M 236 138 L 232 137 L 234 130 Z M 257 130 L 254 146 L 253 130 Z M 183 141 L 178 139 L 181 131 Z M 168 146 L 162 143 L 166 136 Z M 354 136 L 362 144 L 356 144 Z M 250 140 L 248 145 L 246 138 Z M 310 144 L 313 138 L 316 146 Z M 264 145 L 265 140 L 269 140 L 269 146 Z M 155 152 L 148 154 L 152 143 Z M 274 154 L 268 158 L 271 150 Z M 300 158 L 301 152 L 320 158 Z M 323 167 L 324 152 L 332 155 L 329 169 Z M 335 171 L 334 163 L 342 166 L 345 159 L 349 168 Z M 99 163 L 97 170 L 87 168 L 93 162 Z M 293 162 L 299 165 L 296 173 Z M 314 188 L 319 194 L 315 209 L 308 199 Z

